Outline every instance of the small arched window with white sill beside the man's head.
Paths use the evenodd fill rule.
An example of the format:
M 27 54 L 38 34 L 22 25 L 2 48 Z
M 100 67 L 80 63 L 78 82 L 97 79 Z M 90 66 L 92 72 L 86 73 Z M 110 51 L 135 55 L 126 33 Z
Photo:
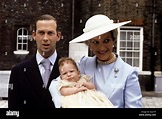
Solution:
M 16 51 L 14 54 L 28 54 L 28 30 L 24 27 L 21 27 L 17 30 L 17 43 Z

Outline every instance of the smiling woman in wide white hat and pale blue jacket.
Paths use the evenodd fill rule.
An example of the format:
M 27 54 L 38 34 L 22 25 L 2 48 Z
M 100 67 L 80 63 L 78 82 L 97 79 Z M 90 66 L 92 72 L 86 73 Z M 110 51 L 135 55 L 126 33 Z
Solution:
M 113 52 L 116 29 L 129 22 L 113 23 L 105 15 L 94 15 L 87 20 L 84 33 L 70 41 L 85 42 L 89 46 L 94 56 L 80 59 L 80 72 L 92 76 L 96 89 L 102 91 L 117 108 L 142 107 L 137 69 Z

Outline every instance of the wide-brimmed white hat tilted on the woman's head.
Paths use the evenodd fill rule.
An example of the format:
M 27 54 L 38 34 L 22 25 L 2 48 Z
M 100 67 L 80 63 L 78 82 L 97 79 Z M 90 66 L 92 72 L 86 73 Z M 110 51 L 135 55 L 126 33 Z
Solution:
M 114 23 L 113 20 L 110 20 L 107 16 L 98 14 L 90 17 L 83 29 L 83 34 L 74 38 L 69 43 L 78 43 L 94 38 L 98 35 L 104 34 L 111 30 L 114 30 L 120 26 L 123 26 L 131 21 L 125 21 L 120 23 Z

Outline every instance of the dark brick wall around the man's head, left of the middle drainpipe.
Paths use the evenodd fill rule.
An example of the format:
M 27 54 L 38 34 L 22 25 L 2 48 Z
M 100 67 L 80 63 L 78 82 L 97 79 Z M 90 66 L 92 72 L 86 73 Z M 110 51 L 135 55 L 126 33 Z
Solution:
M 0 1 L 0 70 L 10 70 L 16 63 L 28 59 L 36 51 L 35 41 L 29 41 L 28 55 L 15 55 L 16 27 L 27 26 L 32 33 L 34 19 L 42 14 L 51 14 L 58 20 L 63 39 L 57 44 L 60 56 L 68 55 L 71 40 L 72 1 L 66 0 L 12 0 Z

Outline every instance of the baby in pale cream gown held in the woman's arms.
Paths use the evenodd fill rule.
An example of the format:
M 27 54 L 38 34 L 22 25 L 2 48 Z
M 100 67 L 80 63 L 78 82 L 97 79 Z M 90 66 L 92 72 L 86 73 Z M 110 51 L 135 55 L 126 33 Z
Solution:
M 114 108 L 108 98 L 95 89 L 91 77 L 80 74 L 72 58 L 63 57 L 58 63 L 62 108 Z

